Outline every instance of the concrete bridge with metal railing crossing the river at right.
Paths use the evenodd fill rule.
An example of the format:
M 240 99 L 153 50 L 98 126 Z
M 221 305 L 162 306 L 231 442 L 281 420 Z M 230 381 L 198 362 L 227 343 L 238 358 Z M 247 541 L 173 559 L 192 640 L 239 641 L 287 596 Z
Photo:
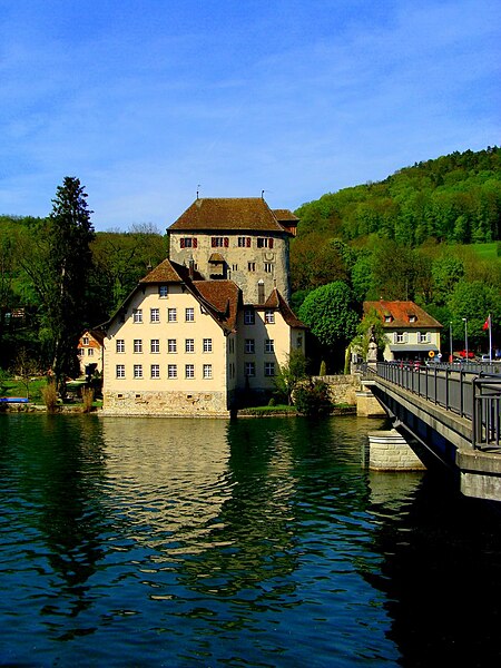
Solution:
M 501 501 L 501 371 L 381 362 L 362 384 L 428 466 L 451 471 L 468 497 Z

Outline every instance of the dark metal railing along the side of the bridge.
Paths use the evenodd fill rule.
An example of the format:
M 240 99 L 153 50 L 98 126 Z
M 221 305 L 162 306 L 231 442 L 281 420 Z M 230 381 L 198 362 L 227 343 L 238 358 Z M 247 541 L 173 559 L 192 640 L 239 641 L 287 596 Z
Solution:
M 500 448 L 501 374 L 464 365 L 377 362 L 362 370 L 472 421 L 473 448 Z

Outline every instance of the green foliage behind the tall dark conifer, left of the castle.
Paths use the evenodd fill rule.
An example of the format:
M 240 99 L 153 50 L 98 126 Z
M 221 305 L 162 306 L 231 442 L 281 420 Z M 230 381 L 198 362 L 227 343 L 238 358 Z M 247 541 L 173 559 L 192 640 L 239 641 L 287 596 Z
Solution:
M 59 195 L 58 190 L 56 200 Z M 62 204 L 48 218 L 0 216 L 0 369 L 18 369 L 20 350 L 37 362 L 39 371 L 52 367 L 58 313 L 77 308 L 78 313 L 63 320 L 71 321 L 78 334 L 96 327 L 115 313 L 148 269 L 167 256 L 166 237 L 151 225 L 96 234 L 80 229 L 80 235 L 61 224 Z M 66 257 L 71 249 L 72 258 Z M 75 297 L 58 306 L 63 262 L 65 299 L 70 293 Z M 70 279 L 73 285 L 68 291 Z M 73 340 L 73 352 L 75 345 Z

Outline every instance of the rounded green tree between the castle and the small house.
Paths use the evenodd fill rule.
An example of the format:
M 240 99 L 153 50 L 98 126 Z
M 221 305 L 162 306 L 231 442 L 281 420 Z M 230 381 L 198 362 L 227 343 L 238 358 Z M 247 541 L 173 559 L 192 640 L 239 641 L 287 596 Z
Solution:
M 344 360 L 346 344 L 353 338 L 360 321 L 346 283 L 335 281 L 314 289 L 303 302 L 298 316 L 331 354 L 336 351 L 336 356 Z

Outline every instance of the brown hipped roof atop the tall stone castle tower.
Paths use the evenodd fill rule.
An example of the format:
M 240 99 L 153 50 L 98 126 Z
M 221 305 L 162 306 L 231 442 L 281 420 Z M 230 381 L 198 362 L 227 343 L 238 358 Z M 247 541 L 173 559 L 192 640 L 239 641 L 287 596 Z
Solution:
M 262 197 L 196 199 L 168 230 L 281 232 L 284 228 Z

